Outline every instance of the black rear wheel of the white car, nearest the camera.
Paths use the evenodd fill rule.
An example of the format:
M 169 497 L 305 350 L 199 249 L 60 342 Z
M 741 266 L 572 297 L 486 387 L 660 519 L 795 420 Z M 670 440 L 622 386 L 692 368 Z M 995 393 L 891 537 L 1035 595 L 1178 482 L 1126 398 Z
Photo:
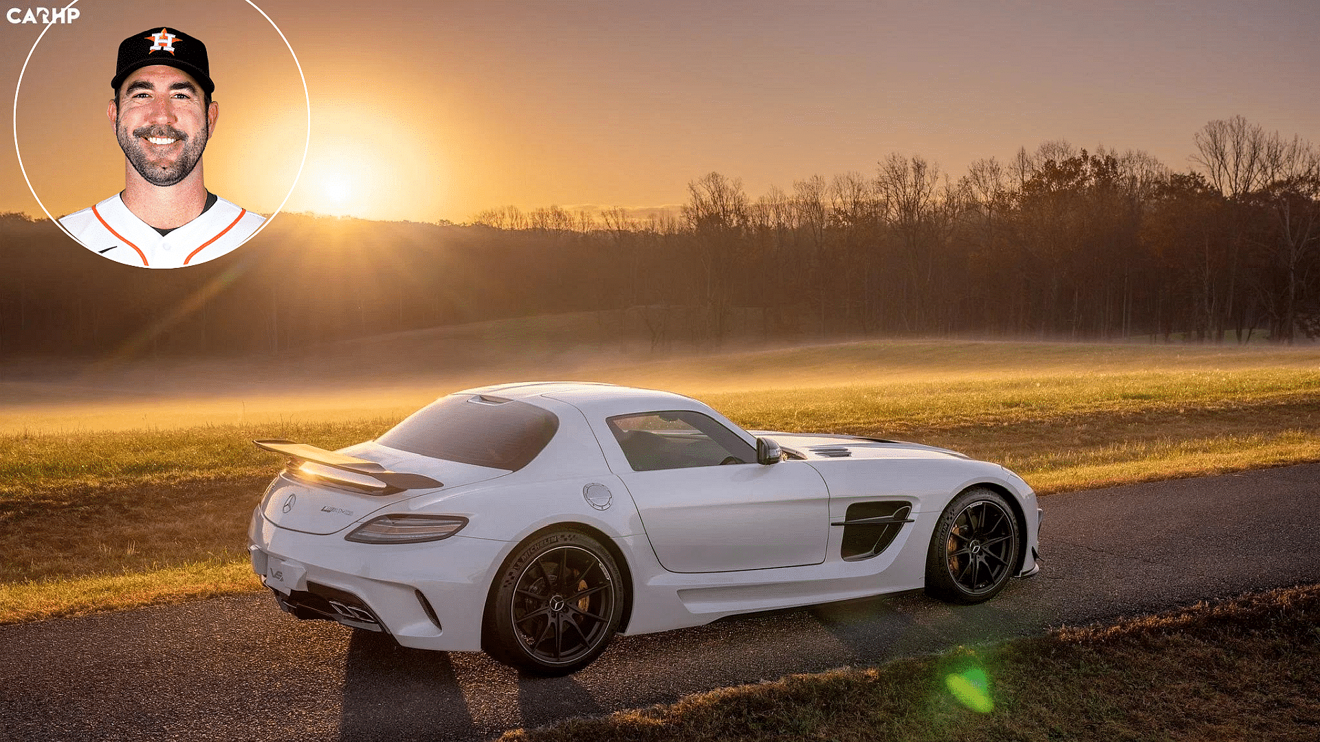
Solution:
M 591 536 L 560 529 L 528 539 L 496 577 L 486 652 L 535 675 L 577 672 L 614 638 L 626 589 L 614 557 Z

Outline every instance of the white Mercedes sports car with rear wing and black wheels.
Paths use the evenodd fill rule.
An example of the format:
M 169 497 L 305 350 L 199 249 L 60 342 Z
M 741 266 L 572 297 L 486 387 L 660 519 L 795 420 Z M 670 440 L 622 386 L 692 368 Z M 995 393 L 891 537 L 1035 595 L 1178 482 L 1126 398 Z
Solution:
M 540 675 L 615 632 L 1035 574 L 1040 511 L 944 449 L 746 432 L 685 396 L 543 382 L 457 392 L 375 441 L 256 441 L 288 466 L 252 514 L 285 611 Z

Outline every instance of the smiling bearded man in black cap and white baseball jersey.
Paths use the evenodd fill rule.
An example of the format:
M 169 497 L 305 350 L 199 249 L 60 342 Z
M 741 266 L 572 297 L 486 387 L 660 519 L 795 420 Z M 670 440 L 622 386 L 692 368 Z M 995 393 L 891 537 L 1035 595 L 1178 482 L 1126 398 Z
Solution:
M 202 152 L 215 132 L 206 45 L 162 26 L 119 45 L 106 115 L 124 151 L 124 190 L 59 224 L 119 263 L 180 268 L 219 257 L 265 220 L 206 190 Z

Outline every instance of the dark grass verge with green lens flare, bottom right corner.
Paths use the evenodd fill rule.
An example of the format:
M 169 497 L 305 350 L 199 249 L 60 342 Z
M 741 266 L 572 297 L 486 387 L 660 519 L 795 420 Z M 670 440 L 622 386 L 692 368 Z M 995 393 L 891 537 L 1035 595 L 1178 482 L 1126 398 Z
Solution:
M 726 688 L 502 739 L 1309 742 L 1320 738 L 1317 624 L 1320 586 L 1275 590 Z M 956 697 L 957 679 L 975 673 L 985 692 Z

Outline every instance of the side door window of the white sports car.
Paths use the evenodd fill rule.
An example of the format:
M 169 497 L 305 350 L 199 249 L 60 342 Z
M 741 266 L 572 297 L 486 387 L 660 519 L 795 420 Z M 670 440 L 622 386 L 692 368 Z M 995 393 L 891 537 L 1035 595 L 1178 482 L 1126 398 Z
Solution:
M 756 449 L 700 412 L 619 415 L 606 422 L 634 471 L 756 461 Z

